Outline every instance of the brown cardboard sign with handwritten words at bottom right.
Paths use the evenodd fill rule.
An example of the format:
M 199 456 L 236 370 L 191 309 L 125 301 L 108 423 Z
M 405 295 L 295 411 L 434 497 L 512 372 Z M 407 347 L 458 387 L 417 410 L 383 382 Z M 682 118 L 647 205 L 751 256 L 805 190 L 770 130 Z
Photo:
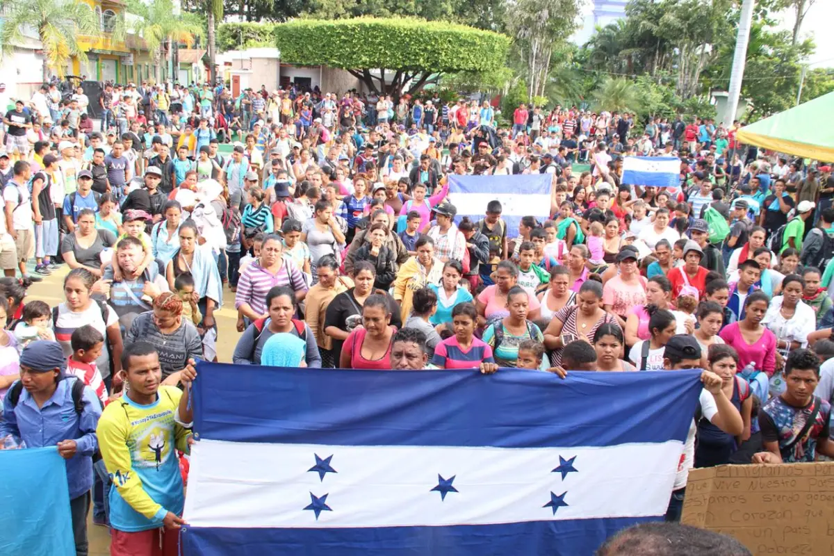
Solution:
M 755 556 L 834 554 L 834 462 L 692 469 L 681 522 Z

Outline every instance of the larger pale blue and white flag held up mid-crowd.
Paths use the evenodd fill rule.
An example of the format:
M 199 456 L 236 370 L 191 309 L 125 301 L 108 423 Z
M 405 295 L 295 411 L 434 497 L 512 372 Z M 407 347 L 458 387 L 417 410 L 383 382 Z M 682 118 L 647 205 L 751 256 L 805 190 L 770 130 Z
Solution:
M 490 201 L 501 202 L 501 218 L 507 224 L 507 237 L 519 234 L 525 216 L 544 221 L 550 218 L 549 173 L 516 176 L 449 176 L 449 199 L 458 209 L 457 222 L 468 216 L 473 222 L 484 218 Z

